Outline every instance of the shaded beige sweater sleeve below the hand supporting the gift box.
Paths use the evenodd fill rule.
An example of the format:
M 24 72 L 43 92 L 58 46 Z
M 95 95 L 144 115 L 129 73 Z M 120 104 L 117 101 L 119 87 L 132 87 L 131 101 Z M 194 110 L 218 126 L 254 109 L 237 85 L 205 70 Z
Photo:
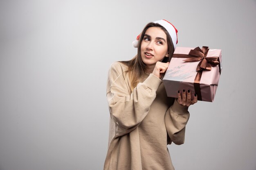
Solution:
M 184 144 L 185 126 L 189 120 L 188 107 L 180 105 L 174 100 L 173 105 L 166 111 L 165 126 L 168 133 L 168 144 Z

